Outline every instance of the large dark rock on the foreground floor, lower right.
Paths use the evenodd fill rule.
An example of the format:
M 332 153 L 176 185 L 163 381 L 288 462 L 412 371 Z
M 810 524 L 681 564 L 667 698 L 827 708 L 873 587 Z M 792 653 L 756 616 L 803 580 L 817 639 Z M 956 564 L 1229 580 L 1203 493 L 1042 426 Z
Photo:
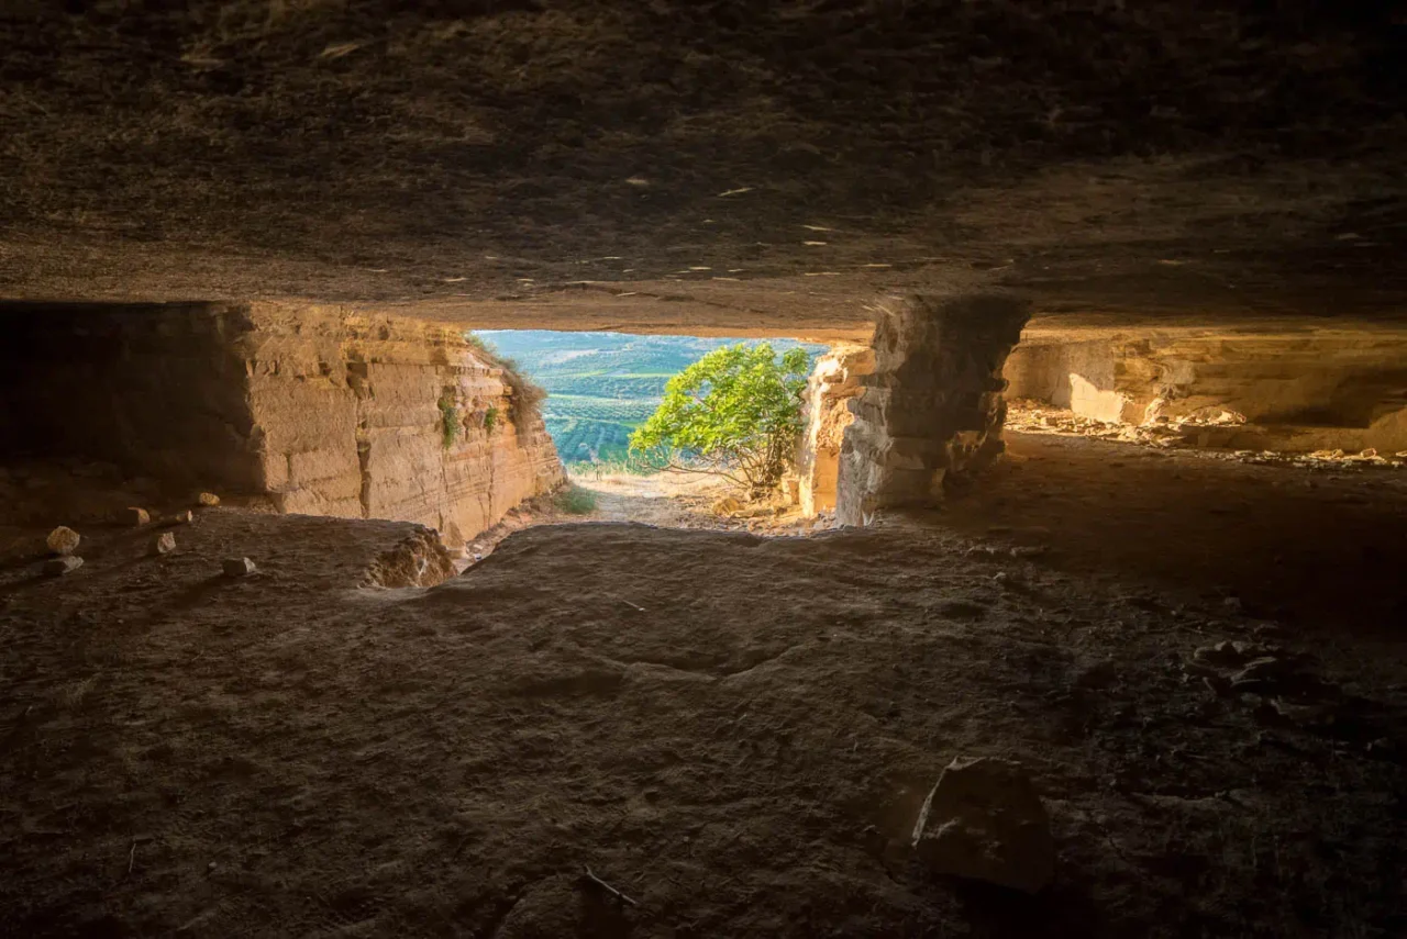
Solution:
M 1037 893 L 1055 876 L 1055 841 L 1020 763 L 954 759 L 923 803 L 913 848 L 937 873 Z

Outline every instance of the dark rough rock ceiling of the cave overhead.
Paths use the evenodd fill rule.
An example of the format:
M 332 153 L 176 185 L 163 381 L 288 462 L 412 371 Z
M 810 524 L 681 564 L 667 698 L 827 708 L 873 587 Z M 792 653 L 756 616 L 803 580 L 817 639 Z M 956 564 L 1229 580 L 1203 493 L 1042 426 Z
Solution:
M 1306 0 L 6 0 L 0 297 L 1393 322 L 1404 32 Z

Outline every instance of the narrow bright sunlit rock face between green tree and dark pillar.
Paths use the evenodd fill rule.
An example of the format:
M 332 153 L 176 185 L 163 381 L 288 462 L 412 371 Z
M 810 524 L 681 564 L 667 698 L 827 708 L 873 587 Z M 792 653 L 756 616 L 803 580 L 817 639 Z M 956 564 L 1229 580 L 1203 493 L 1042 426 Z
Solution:
M 860 394 L 862 377 L 874 368 L 874 350 L 865 346 L 834 346 L 816 360 L 806 384 L 802 406 L 806 429 L 796 454 L 799 502 L 806 514 L 836 507 L 840 447 L 846 427 L 855 419 L 850 399 Z

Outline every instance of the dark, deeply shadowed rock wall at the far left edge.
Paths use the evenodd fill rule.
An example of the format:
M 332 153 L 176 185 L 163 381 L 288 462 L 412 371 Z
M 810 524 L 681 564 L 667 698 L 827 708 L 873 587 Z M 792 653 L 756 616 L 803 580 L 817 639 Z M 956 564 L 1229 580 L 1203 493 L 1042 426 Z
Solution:
M 0 304 L 0 444 L 170 485 L 257 486 L 238 304 Z

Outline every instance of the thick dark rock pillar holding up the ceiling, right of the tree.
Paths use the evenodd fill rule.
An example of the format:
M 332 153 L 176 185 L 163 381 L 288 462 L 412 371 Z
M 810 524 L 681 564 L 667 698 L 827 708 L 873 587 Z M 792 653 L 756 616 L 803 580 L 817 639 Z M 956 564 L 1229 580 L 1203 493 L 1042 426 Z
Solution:
M 941 500 L 1002 453 L 1002 365 L 1027 306 L 1009 297 L 915 297 L 881 309 L 875 370 L 850 401 L 836 489 L 841 524 Z

